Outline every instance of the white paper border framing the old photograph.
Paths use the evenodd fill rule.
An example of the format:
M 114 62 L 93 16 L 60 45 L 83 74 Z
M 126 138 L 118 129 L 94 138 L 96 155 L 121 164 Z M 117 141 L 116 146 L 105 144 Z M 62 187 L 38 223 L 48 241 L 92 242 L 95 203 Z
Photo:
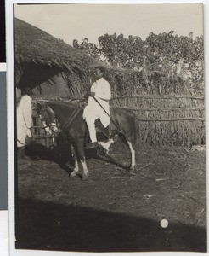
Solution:
M 53 252 L 53 251 L 33 251 L 33 250 L 16 250 L 14 247 L 14 32 L 13 32 L 13 22 L 14 22 L 14 4 L 15 3 L 122 3 L 122 4 L 153 4 L 153 3 L 203 3 L 204 4 L 204 40 L 205 40 L 205 104 L 206 104 L 206 160 L 209 159 L 208 153 L 208 104 L 209 104 L 209 29 L 208 29 L 208 20 L 209 20 L 209 3 L 207 0 L 172 0 L 172 1 L 68 1 L 68 0 L 5 0 L 6 5 L 6 49 L 7 49 L 7 108 L 8 108 L 8 209 L 9 209 L 9 240 L 10 240 L 10 255 L 11 256 L 29 256 L 29 255 L 100 255 L 101 253 L 73 253 L 73 252 Z M 206 72 L 207 71 L 207 72 Z M 206 163 L 206 174 L 208 173 L 208 164 Z M 206 183 L 208 186 L 208 175 L 206 175 Z M 208 204 L 208 196 L 207 196 Z M 208 214 L 208 207 L 207 207 Z M 208 229 L 207 229 L 208 232 Z M 208 235 L 208 234 L 207 234 Z M 207 244 L 208 244 L 207 236 Z M 150 256 L 150 255 L 202 255 L 202 253 L 167 253 L 167 252 L 158 252 L 158 253 L 108 253 L 111 255 L 139 255 L 139 256 Z M 206 253 L 207 254 L 207 253 Z

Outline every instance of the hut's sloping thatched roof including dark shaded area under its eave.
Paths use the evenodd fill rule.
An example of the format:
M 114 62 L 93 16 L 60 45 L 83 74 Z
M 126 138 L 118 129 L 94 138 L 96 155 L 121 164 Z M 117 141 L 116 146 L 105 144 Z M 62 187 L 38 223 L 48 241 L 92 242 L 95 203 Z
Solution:
M 17 87 L 36 87 L 54 75 L 67 72 L 82 76 L 96 61 L 47 32 L 14 19 L 14 63 Z

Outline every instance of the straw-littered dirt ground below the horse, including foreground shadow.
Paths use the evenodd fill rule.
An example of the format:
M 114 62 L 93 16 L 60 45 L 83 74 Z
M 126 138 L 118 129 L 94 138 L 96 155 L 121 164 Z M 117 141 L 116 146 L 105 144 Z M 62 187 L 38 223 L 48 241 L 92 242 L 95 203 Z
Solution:
M 128 166 L 127 150 L 113 149 Z M 206 252 L 204 150 L 138 148 L 133 173 L 88 155 L 87 181 L 80 163 L 70 178 L 65 157 L 44 150 L 40 160 L 18 160 L 16 248 Z

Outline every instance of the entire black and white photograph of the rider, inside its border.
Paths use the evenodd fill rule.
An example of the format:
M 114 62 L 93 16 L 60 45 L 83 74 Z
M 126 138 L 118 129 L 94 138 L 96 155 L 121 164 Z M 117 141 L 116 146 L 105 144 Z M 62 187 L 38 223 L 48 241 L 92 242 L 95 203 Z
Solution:
M 14 3 L 14 248 L 206 253 L 203 3 Z

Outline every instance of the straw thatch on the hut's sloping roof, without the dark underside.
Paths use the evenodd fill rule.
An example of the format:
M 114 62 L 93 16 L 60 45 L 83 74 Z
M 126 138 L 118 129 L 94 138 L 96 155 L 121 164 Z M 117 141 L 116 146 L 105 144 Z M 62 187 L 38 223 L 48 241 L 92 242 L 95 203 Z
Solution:
M 34 63 L 70 73 L 82 73 L 83 67 L 95 64 L 95 60 L 47 32 L 14 19 L 15 61 L 18 64 Z

